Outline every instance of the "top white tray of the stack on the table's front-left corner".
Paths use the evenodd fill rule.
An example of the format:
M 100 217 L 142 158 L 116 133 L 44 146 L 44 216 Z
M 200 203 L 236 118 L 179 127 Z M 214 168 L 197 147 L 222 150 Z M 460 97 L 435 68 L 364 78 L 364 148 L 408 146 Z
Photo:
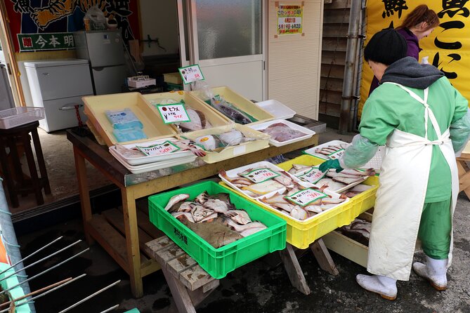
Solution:
M 162 138 L 162 139 L 158 139 L 158 140 L 133 142 L 133 143 L 129 143 L 129 144 L 122 145 L 122 146 L 126 147 L 127 149 L 133 149 L 136 146 L 148 147 L 150 145 L 157 145 L 157 144 L 165 142 L 167 140 L 177 141 L 176 138 L 169 137 L 169 138 Z M 129 157 L 126 157 L 126 156 L 122 155 L 122 153 L 119 152 L 116 149 L 115 145 L 112 145 L 109 149 L 110 149 L 110 152 L 114 152 L 115 154 L 119 155 L 121 157 L 121 159 L 123 159 L 124 161 L 127 162 L 127 164 L 133 165 L 133 166 L 141 165 L 141 164 L 155 163 L 155 162 L 158 162 L 158 161 L 174 160 L 174 159 L 179 159 L 179 158 L 188 157 L 188 156 L 193 155 L 192 152 L 190 152 L 190 151 L 176 151 L 176 152 L 172 152 L 172 153 L 169 153 L 169 154 L 162 154 L 162 155 L 156 155 L 156 156 L 140 156 L 140 157 L 138 156 L 138 157 L 135 157 L 135 158 L 129 158 Z

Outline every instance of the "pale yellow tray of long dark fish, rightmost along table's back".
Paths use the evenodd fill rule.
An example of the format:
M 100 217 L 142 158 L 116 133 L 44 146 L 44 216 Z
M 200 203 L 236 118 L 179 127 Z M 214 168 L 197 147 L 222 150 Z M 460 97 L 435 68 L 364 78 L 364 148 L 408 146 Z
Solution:
M 248 100 L 247 98 L 244 98 L 242 95 L 239 95 L 238 93 L 235 93 L 235 91 L 232 91 L 230 88 L 226 86 L 214 87 L 214 88 L 211 88 L 211 91 L 214 95 L 220 95 L 227 102 L 230 102 L 231 104 L 235 105 L 235 107 L 239 107 L 240 109 L 242 109 L 243 112 L 247 112 L 247 114 L 253 116 L 255 119 L 258 120 L 254 123 L 250 123 L 246 125 L 261 123 L 264 121 L 270 121 L 274 119 L 273 114 L 270 114 L 266 110 L 261 109 L 261 107 L 255 105 L 252 101 Z M 190 91 L 190 93 L 192 95 L 195 95 L 197 98 L 200 98 L 201 100 L 205 100 L 202 98 L 201 91 Z M 216 112 L 220 114 L 221 116 L 223 116 L 225 119 L 228 119 L 228 117 L 223 115 L 221 112 L 218 112 L 218 111 Z

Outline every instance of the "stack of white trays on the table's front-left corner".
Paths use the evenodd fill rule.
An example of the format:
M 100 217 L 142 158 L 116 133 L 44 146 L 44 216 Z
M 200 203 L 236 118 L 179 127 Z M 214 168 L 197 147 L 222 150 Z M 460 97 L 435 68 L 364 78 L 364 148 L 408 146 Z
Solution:
M 175 142 L 177 139 L 161 138 L 145 142 L 133 142 L 124 144 L 122 147 L 125 147 L 126 149 L 136 149 L 136 146 L 149 147 L 152 145 L 161 144 L 167 140 L 170 142 Z M 190 163 L 195 161 L 197 157 L 190 151 L 176 151 L 155 156 L 126 156 L 115 145 L 112 145 L 109 149 L 112 156 L 115 156 L 117 161 L 119 161 L 125 168 L 134 174 Z

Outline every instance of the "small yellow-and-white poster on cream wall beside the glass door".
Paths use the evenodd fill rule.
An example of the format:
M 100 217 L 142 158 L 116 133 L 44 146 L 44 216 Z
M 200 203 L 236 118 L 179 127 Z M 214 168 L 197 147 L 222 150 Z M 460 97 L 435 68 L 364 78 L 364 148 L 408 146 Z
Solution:
M 302 34 L 303 4 L 279 4 L 278 35 Z

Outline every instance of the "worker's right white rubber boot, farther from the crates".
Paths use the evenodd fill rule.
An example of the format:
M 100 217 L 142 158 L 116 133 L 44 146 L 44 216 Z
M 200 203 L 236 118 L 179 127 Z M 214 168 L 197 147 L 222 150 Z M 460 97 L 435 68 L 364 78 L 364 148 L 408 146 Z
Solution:
M 448 259 L 436 260 L 426 255 L 426 265 L 414 262 L 413 269 L 416 274 L 427 279 L 436 290 L 445 291 L 447 289 L 447 263 Z

